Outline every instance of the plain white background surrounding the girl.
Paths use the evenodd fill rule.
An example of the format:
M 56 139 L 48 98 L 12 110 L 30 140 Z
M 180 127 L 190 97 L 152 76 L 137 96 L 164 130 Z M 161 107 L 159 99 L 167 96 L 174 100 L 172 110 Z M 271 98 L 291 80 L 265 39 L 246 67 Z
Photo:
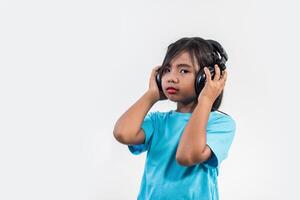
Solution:
M 298 199 L 298 4 L 1 1 L 0 199 L 136 199 L 146 154 L 113 126 L 167 46 L 191 36 L 229 56 L 221 110 L 237 132 L 221 199 Z

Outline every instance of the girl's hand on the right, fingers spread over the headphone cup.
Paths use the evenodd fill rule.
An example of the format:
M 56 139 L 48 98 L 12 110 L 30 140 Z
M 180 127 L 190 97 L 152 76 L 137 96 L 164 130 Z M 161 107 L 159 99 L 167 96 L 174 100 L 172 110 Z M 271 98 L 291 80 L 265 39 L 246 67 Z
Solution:
M 218 67 L 218 65 L 215 65 L 215 76 L 213 80 L 211 79 L 211 74 L 207 67 L 204 68 L 204 72 L 206 75 L 206 81 L 205 86 L 199 94 L 198 102 L 202 98 L 208 98 L 213 104 L 225 87 L 227 72 L 225 69 L 221 74 L 220 68 Z

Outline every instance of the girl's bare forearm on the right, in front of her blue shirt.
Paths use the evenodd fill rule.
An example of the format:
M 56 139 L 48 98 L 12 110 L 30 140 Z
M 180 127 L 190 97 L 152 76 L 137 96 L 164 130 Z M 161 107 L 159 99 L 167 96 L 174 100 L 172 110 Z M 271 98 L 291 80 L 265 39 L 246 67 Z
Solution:
M 211 111 L 211 100 L 203 97 L 198 101 L 180 138 L 176 157 L 192 159 L 206 147 L 206 126 Z

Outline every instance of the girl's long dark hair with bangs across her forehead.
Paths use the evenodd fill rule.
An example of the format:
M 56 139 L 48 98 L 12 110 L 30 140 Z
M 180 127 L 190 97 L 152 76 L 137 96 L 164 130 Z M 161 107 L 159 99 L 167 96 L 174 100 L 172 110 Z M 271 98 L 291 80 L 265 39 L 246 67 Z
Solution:
M 184 37 L 168 46 L 166 56 L 160 68 L 161 72 L 164 71 L 165 67 L 169 65 L 174 57 L 183 51 L 189 53 L 193 65 L 195 65 L 194 58 L 196 59 L 199 71 L 205 66 L 212 65 L 215 62 L 213 56 L 214 47 L 207 40 L 200 37 Z M 216 98 L 211 111 L 219 109 L 222 103 L 223 93 L 224 90 L 222 90 L 220 95 Z

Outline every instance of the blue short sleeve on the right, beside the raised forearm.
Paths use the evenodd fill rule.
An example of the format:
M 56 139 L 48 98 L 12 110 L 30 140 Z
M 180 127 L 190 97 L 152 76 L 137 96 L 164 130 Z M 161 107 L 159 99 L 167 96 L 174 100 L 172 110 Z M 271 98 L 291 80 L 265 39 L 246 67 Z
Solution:
M 219 167 L 227 158 L 236 130 L 236 123 L 229 115 L 223 115 L 207 124 L 206 143 L 212 156 L 203 164 L 209 168 Z

